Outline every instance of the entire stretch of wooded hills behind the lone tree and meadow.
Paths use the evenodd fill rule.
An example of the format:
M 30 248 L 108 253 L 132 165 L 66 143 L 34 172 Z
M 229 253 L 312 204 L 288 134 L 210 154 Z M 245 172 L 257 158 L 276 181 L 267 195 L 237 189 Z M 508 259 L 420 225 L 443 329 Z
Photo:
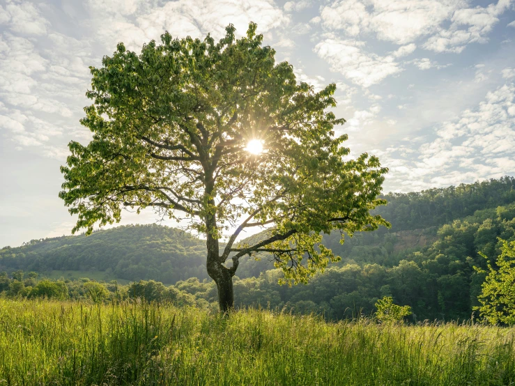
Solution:
M 342 260 L 307 286 L 279 286 L 282 274 L 270 269 L 268 256 L 261 261 L 246 258 L 234 283 L 235 303 L 339 319 L 371 314 L 378 298 L 391 295 L 397 304 L 412 307 L 411 321 L 470 318 L 484 281 L 474 266 L 485 268 L 487 263 L 479 252 L 495 265 L 498 238 L 515 240 L 515 178 L 390 194 L 386 199 L 389 204 L 377 212 L 392 228 L 357 234 L 344 245 L 339 235 L 326 236 L 326 245 Z M 216 287 L 206 279 L 204 248 L 203 240 L 156 225 L 121 226 L 87 238 L 32 240 L 1 249 L 0 270 L 6 272 L 0 274 L 0 292 L 91 298 L 98 292 L 91 288 L 98 285 L 105 288 L 98 295 L 102 300 L 143 296 L 213 307 Z M 56 269 L 84 270 L 84 276 L 88 270 L 109 270 L 113 277 L 146 281 L 119 286 L 44 279 L 45 271 Z M 52 283 L 61 290 L 50 293 Z

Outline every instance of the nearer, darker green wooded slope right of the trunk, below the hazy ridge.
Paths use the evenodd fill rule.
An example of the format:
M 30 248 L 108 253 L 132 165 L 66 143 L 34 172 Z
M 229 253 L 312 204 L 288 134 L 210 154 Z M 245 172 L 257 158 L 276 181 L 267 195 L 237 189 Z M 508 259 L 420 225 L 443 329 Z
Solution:
M 435 240 L 426 247 L 415 248 L 415 252 L 392 251 L 393 256 L 401 258 L 395 265 L 358 261 L 332 267 L 316 275 L 307 286 L 279 286 L 281 272 L 268 270 L 258 278 L 235 281 L 235 303 L 302 314 L 314 311 L 340 319 L 360 313 L 370 315 L 379 298 L 392 296 L 397 304 L 412 307 L 412 321 L 469 319 L 472 307 L 479 305 L 477 295 L 484 281 L 484 274 L 473 267 L 486 267 L 486 260 L 478 252 L 484 252 L 494 263 L 500 247 L 497 238 L 515 240 L 514 217 L 515 203 L 477 210 L 475 215 L 438 228 Z M 386 250 L 383 254 L 389 255 Z M 198 299 L 215 300 L 215 286 L 208 281 L 189 279 L 179 281 L 176 287 Z

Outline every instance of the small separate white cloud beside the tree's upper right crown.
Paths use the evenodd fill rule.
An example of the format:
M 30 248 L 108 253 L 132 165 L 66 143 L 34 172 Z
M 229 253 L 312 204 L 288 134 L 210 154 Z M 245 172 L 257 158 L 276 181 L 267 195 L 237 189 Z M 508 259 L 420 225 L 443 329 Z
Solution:
M 355 40 L 326 38 L 316 45 L 314 51 L 330 64 L 332 71 L 340 72 L 363 87 L 377 84 L 402 71 L 393 56 L 367 53 L 362 47 L 364 43 Z

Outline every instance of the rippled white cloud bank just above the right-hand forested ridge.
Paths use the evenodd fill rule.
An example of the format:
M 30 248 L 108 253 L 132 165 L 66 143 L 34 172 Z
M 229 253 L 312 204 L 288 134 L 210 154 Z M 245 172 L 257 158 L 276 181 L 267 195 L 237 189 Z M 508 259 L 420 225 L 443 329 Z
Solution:
M 427 132 L 418 148 L 408 138 L 378 150 L 390 168 L 389 184 L 412 190 L 413 182 L 424 189 L 515 173 L 514 102 L 515 85 L 505 84 L 486 93 L 474 109 Z M 410 148 L 415 152 L 403 151 Z

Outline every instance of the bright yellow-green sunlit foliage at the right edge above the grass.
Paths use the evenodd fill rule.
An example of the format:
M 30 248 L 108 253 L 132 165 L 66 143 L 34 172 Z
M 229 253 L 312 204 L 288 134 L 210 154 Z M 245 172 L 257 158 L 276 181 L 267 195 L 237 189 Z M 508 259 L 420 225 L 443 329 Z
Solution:
M 498 210 L 505 214 L 507 211 Z M 488 263 L 488 275 L 482 284 L 482 293 L 479 295 L 481 306 L 474 307 L 479 310 L 488 323 L 505 325 L 515 324 L 515 241 L 500 240 L 501 254 L 494 263 Z M 488 256 L 482 254 L 486 260 Z M 495 266 L 495 268 L 494 268 Z M 484 272 L 477 269 L 478 272 Z

